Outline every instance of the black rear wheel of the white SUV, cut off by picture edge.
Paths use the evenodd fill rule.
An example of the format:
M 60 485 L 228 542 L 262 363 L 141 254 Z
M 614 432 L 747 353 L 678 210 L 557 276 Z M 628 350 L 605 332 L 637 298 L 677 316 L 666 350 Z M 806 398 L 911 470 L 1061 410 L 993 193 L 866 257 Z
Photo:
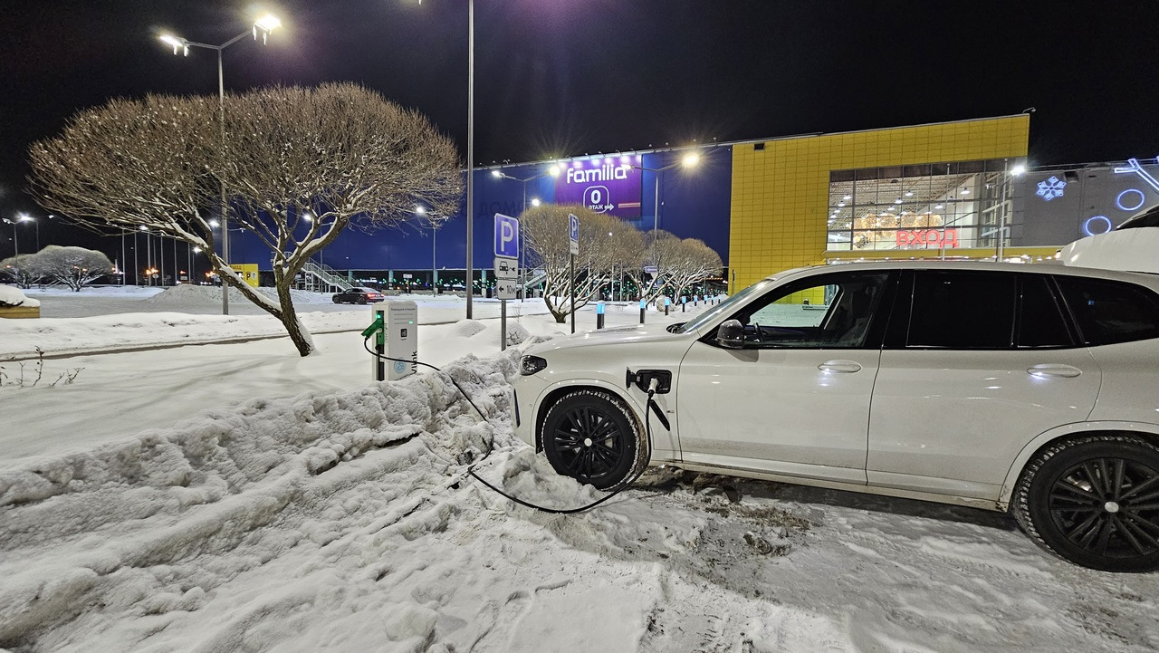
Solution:
M 1159 569 L 1159 447 L 1125 434 L 1051 444 L 1027 464 L 1011 511 L 1035 543 L 1077 565 Z

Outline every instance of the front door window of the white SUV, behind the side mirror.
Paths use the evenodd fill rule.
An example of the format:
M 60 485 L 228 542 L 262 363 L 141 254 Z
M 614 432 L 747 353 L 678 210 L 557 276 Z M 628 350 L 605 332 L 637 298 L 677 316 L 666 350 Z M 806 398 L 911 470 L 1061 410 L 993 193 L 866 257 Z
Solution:
M 746 347 L 857 349 L 865 346 L 889 273 L 843 273 L 779 288 L 734 315 Z

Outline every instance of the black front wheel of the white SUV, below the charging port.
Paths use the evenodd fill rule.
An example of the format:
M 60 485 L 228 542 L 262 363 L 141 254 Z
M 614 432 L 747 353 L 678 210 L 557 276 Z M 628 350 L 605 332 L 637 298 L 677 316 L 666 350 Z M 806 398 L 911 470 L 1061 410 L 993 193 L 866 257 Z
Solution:
M 553 404 L 540 443 L 556 472 L 599 489 L 615 489 L 648 465 L 648 441 L 635 416 L 599 390 L 578 390 Z

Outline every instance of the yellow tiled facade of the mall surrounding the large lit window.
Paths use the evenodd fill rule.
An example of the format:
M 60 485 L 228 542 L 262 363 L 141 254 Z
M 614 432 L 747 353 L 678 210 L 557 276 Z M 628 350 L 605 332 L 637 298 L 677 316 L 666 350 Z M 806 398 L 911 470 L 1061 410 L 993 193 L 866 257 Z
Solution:
M 898 256 L 899 252 L 888 249 L 829 251 L 826 217 L 833 170 L 1025 158 L 1029 128 L 1030 116 L 1023 114 L 735 145 L 730 291 L 788 268 L 841 257 Z M 987 253 L 957 249 L 954 255 Z

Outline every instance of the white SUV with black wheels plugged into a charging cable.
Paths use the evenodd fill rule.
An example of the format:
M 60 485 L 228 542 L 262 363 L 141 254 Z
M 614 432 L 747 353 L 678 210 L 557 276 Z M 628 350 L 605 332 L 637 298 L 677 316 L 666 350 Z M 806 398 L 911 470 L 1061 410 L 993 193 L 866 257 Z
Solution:
M 599 488 L 650 462 L 1008 509 L 1067 560 L 1159 568 L 1156 275 L 795 269 L 668 332 L 538 344 L 520 368 L 516 433 Z

